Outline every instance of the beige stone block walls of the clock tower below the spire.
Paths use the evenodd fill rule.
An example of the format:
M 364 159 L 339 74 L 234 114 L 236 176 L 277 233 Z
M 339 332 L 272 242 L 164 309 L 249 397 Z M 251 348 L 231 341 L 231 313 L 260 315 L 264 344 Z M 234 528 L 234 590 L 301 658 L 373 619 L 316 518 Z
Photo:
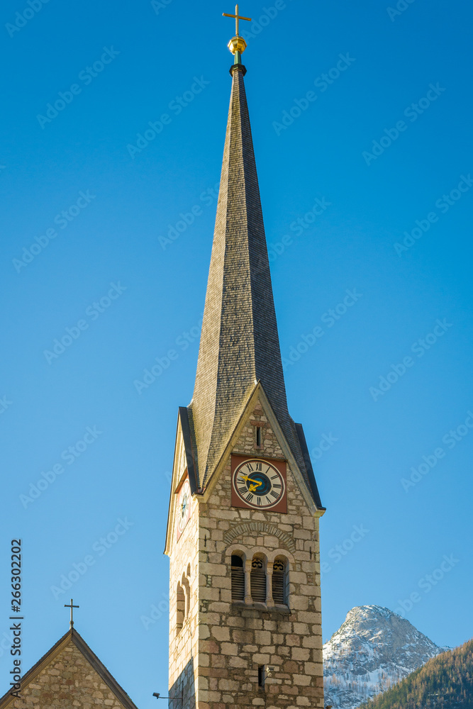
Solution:
M 287 446 L 278 440 L 269 418 L 257 400 L 245 415 L 232 452 L 286 459 Z M 264 427 L 260 448 L 255 423 Z M 207 494 L 193 496 L 191 517 L 179 541 L 176 530 L 169 530 L 169 696 L 184 695 L 189 709 L 323 707 L 321 512 L 314 514 L 308 506 L 289 464 L 287 514 L 231 507 L 230 455 L 210 487 Z M 265 560 L 268 579 L 275 557 L 286 559 L 286 605 L 274 605 L 270 581 L 267 603 L 252 602 L 248 580 L 245 601 L 232 602 L 230 559 L 236 552 L 244 559 L 247 579 L 253 554 Z M 187 571 L 189 612 L 177 628 L 177 584 Z M 258 686 L 262 666 L 264 687 Z M 267 666 L 274 667 L 269 676 Z M 171 703 L 172 709 L 180 705 Z

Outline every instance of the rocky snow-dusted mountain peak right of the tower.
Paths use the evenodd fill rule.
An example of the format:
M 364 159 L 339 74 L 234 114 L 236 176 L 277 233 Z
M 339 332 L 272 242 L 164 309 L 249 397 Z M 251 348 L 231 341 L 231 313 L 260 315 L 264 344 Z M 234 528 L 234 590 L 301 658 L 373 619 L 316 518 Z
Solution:
M 325 706 L 353 709 L 445 649 L 389 608 L 352 608 L 323 646 Z

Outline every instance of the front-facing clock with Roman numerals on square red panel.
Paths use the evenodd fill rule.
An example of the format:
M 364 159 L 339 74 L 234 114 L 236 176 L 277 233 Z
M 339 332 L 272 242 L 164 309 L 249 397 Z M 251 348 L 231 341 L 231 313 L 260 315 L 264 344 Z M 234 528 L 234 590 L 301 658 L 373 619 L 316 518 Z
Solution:
M 277 466 L 277 467 L 276 467 Z M 236 462 L 232 475 L 232 504 L 255 510 L 286 512 L 284 464 L 258 458 Z M 284 508 L 283 508 L 284 505 Z

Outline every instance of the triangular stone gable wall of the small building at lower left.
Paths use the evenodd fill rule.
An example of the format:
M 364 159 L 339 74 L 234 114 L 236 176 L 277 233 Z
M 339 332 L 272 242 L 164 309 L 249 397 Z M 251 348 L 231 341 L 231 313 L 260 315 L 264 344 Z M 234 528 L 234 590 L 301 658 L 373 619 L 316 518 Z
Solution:
M 136 709 L 82 637 L 69 632 L 21 681 L 20 698 L 7 693 L 1 709 Z

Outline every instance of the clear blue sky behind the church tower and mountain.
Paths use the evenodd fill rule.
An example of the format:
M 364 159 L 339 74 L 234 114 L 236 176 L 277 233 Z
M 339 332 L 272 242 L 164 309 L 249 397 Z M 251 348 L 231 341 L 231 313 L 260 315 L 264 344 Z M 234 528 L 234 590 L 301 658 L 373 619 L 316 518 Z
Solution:
M 146 709 L 167 687 L 169 471 L 233 6 L 39 1 L 6 0 L 0 23 L 0 635 L 20 536 L 24 669 L 73 596 L 77 630 Z M 375 603 L 455 646 L 472 636 L 473 18 L 398 5 L 242 4 L 245 82 L 289 409 L 327 507 L 324 640 Z

